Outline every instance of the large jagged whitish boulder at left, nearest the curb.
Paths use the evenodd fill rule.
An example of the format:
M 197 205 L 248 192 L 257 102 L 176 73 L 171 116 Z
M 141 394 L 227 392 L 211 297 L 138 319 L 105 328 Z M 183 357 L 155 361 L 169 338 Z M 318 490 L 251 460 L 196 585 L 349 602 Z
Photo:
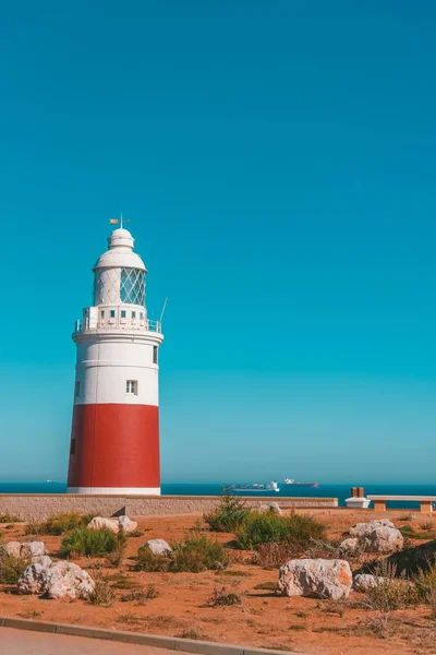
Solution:
M 49 559 L 49 558 L 48 558 Z M 20 594 L 45 594 L 49 598 L 87 598 L 95 582 L 86 571 L 72 562 L 56 562 L 48 567 L 31 564 L 17 583 Z

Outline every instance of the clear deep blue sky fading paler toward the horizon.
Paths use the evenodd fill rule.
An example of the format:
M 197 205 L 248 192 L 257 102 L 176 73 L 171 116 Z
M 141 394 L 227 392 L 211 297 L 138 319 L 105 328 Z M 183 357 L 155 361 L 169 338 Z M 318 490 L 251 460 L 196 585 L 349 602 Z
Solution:
M 64 479 L 108 219 L 165 481 L 434 481 L 433 2 L 3 3 L 0 481 Z

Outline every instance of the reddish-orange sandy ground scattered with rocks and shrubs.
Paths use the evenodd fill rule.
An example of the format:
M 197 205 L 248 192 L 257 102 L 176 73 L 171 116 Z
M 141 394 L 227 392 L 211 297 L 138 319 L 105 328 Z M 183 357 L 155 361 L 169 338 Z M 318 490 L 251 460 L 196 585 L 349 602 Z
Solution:
M 409 524 L 419 528 L 428 520 L 414 514 L 404 521 L 408 512 L 391 511 L 376 514 L 374 511 L 348 510 L 310 511 L 328 526 L 330 537 L 339 537 L 359 521 L 389 517 L 396 525 Z M 352 593 L 344 604 L 312 598 L 288 598 L 270 591 L 256 588 L 262 583 L 278 579 L 277 570 L 264 570 L 249 562 L 250 553 L 229 550 L 232 564 L 225 572 L 204 573 L 146 573 L 132 571 L 129 557 L 137 552 L 147 539 L 164 538 L 169 543 L 183 538 L 201 519 L 199 515 L 162 516 L 138 519 L 142 537 L 130 537 L 126 558 L 119 569 L 110 569 L 105 560 L 75 560 L 93 575 L 95 565 L 110 576 L 117 593 L 111 607 L 92 606 L 83 600 L 61 602 L 19 596 L 13 587 L 0 586 L 0 615 L 31 618 L 41 621 L 80 623 L 98 628 L 132 630 L 138 632 L 189 636 L 209 641 L 272 647 L 312 655 L 374 654 L 412 655 L 436 653 L 436 623 L 431 619 L 429 608 L 392 611 L 388 631 L 380 636 L 373 627 L 377 616 L 359 607 L 363 596 Z M 436 524 L 436 521 L 435 521 Z M 40 538 L 51 556 L 56 557 L 61 537 L 24 537 L 24 526 L 0 525 L 3 541 Z M 189 533 L 187 533 L 189 534 Z M 218 534 L 223 544 L 232 535 Z M 421 541 L 422 543 L 422 541 Z M 159 596 L 143 604 L 121 602 L 125 588 L 144 588 L 154 584 Z M 210 607 L 209 598 L 215 588 L 242 594 L 242 605 Z

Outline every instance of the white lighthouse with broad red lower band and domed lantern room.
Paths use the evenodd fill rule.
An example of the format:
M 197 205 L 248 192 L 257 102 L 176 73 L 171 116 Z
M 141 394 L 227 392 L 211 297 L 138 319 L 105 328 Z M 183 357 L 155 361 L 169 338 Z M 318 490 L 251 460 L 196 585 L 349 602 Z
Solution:
M 112 221 L 113 222 L 113 221 Z M 70 493 L 159 495 L 158 349 L 147 270 L 121 227 L 97 260 L 94 299 L 77 321 Z

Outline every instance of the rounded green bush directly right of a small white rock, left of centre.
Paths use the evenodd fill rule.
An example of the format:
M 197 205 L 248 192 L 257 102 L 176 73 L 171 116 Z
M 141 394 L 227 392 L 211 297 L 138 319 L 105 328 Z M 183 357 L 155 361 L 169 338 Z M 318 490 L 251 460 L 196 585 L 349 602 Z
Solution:
M 225 569 L 229 563 L 229 556 L 219 541 L 194 537 L 175 544 L 170 560 L 171 571 L 198 573 Z

